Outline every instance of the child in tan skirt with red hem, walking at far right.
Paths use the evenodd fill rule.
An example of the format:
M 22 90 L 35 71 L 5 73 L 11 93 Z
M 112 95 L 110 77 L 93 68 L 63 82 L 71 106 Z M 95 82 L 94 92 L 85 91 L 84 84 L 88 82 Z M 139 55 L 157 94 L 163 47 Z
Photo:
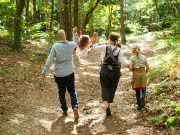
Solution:
M 147 86 L 147 73 L 149 72 L 149 64 L 144 55 L 140 54 L 140 47 L 132 47 L 132 56 L 130 57 L 130 69 L 133 71 L 132 88 L 136 91 L 137 110 L 145 107 L 145 95 Z

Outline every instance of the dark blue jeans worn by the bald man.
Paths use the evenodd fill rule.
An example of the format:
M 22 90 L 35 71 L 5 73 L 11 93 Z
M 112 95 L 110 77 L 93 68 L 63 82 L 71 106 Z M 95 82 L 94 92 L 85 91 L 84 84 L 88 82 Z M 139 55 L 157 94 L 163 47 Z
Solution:
M 59 92 L 59 99 L 61 103 L 61 108 L 64 112 L 68 110 L 67 103 L 66 103 L 66 89 L 68 90 L 68 93 L 71 97 L 71 105 L 72 109 L 78 108 L 78 102 L 77 102 L 77 96 L 76 96 L 76 90 L 75 90 L 75 77 L 74 73 L 65 76 L 65 77 L 56 77 L 55 82 L 58 86 L 58 92 Z

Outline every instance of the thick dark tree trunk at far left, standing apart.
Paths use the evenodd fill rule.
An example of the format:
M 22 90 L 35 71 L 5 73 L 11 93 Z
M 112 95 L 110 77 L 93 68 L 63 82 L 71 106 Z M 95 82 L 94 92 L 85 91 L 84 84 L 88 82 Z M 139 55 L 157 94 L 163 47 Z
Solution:
M 17 51 L 22 50 L 21 45 L 21 21 L 22 13 L 25 6 L 25 0 L 16 0 L 16 15 L 14 18 L 14 46 L 13 49 Z

